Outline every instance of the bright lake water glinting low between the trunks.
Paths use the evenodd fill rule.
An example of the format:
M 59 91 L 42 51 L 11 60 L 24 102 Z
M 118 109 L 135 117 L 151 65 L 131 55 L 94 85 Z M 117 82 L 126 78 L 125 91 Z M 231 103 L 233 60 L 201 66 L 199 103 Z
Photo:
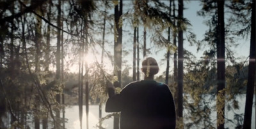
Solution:
M 235 110 L 235 111 L 228 111 L 227 112 L 227 108 L 226 108 L 226 112 L 225 112 L 225 117 L 227 117 L 228 119 L 234 119 L 234 112 L 236 112 L 236 114 L 243 114 L 244 113 L 244 107 L 245 107 L 245 95 L 237 98 L 239 101 L 239 106 L 240 109 L 239 110 Z M 255 96 L 253 97 L 253 99 L 255 99 Z M 186 112 L 186 109 L 184 109 Z M 89 107 L 89 128 L 93 129 L 95 128 L 95 125 L 97 123 L 99 123 L 99 105 L 90 105 Z M 65 116 L 68 119 L 68 122 L 65 124 L 66 128 L 68 129 L 79 129 L 80 128 L 80 121 L 79 121 L 79 109 L 78 109 L 78 105 L 74 105 L 72 107 L 67 107 L 65 109 Z M 107 112 L 104 111 L 104 106 L 102 106 L 102 117 L 106 116 Z M 216 112 L 212 111 L 212 123 L 216 123 Z M 184 121 L 186 123 L 186 121 Z M 252 128 L 255 128 L 255 103 L 253 101 L 253 112 L 252 112 Z M 215 124 L 216 125 L 216 124 Z M 113 118 L 109 118 L 106 119 L 103 123 L 102 126 L 104 126 L 104 128 L 109 128 L 112 129 L 113 128 Z M 234 123 L 230 123 L 228 121 L 226 121 L 225 123 L 225 128 L 235 128 L 236 124 Z M 85 114 L 85 106 L 83 106 L 83 129 L 86 129 L 86 114 Z

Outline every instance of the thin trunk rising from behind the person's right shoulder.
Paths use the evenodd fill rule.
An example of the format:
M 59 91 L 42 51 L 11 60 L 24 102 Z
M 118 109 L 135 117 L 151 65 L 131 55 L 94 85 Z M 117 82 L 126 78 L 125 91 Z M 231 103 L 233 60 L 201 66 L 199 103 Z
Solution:
M 170 0 L 170 6 L 169 6 L 169 16 L 171 17 L 172 14 L 172 1 Z M 169 79 L 169 69 L 170 69 L 170 48 L 169 44 L 171 42 L 171 27 L 168 27 L 168 45 L 167 45 L 167 53 L 166 53 L 166 74 L 165 74 L 165 83 L 168 85 L 168 79 Z

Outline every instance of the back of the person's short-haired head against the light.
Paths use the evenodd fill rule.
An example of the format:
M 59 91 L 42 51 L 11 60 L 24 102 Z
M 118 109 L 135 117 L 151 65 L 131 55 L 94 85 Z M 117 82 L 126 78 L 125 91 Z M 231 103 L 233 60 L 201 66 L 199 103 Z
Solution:
M 148 57 L 142 62 L 141 71 L 145 74 L 145 76 L 154 76 L 158 73 L 159 67 L 156 60 L 152 57 Z

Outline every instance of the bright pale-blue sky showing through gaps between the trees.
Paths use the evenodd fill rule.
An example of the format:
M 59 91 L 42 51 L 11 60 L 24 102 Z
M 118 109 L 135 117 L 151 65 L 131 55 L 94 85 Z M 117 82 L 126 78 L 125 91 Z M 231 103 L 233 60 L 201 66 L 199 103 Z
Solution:
M 127 2 L 127 1 L 125 1 Z M 128 1 L 129 2 L 129 1 Z M 130 1 L 131 2 L 131 1 Z M 169 4 L 169 1 L 166 1 L 167 4 Z M 177 7 L 177 4 L 176 4 Z M 200 6 L 200 1 L 184 1 L 184 8 L 186 8 L 186 10 L 184 10 L 184 17 L 188 18 L 188 20 L 191 23 L 191 27 L 189 27 L 189 29 L 192 30 L 192 32 L 194 32 L 196 34 L 197 40 L 202 40 L 204 37 L 204 33 L 205 31 L 208 29 L 208 27 L 204 24 L 204 18 L 200 17 L 197 15 L 197 11 L 201 10 L 202 6 Z M 125 10 L 125 9 L 124 9 Z M 125 11 L 124 11 L 125 12 Z M 113 13 L 113 12 L 112 12 Z M 177 14 L 177 13 L 176 13 Z M 122 60 L 123 61 L 127 61 L 126 64 L 128 64 L 129 66 L 132 67 L 132 43 L 133 43 L 133 35 L 129 35 L 129 33 L 133 33 L 133 30 L 131 30 L 131 26 L 129 26 L 128 24 L 125 24 L 126 26 L 123 28 L 123 50 L 124 51 L 129 51 L 128 55 L 123 55 Z M 130 28 L 130 29 L 129 29 Z M 129 32 L 126 32 L 129 31 Z M 140 27 L 140 43 L 143 43 L 143 27 Z M 186 32 L 184 32 L 184 38 L 186 38 Z M 108 50 L 109 52 L 111 52 L 113 54 L 113 34 L 109 34 L 106 35 L 106 40 L 109 41 L 109 43 L 111 44 L 106 44 L 106 50 Z M 248 57 L 249 55 L 249 48 L 250 48 L 250 39 L 248 39 L 247 41 L 242 40 L 239 41 L 239 45 L 237 46 L 237 48 L 234 48 L 234 51 L 236 51 L 236 55 L 235 57 L 241 57 L 241 61 L 244 62 L 245 58 Z M 159 74 L 157 75 L 161 75 L 165 69 L 166 69 L 166 61 L 161 61 L 164 58 L 164 54 L 166 53 L 166 48 L 156 48 L 153 46 L 152 43 L 150 43 L 150 37 L 149 34 L 147 35 L 147 48 L 152 48 L 151 54 L 148 55 L 147 57 L 154 57 L 156 58 L 157 62 L 159 62 L 160 65 L 160 71 Z M 193 55 L 196 56 L 197 59 L 200 59 L 200 57 L 202 57 L 202 54 L 204 53 L 204 50 L 207 50 L 207 48 L 205 48 L 204 50 L 200 50 L 200 51 L 196 51 L 196 46 L 190 46 L 188 41 L 184 41 L 184 49 L 190 51 L 191 53 L 193 53 Z M 101 48 L 97 48 L 99 54 L 96 55 L 98 61 L 100 62 L 100 53 L 101 53 Z M 158 51 L 156 53 L 156 51 Z M 125 53 L 125 52 L 123 52 Z M 173 55 L 172 55 L 173 57 Z M 92 51 L 89 52 L 89 54 L 86 56 L 86 60 L 88 60 L 87 62 L 90 64 L 93 62 L 94 60 L 94 56 Z M 140 64 L 141 61 L 143 60 L 143 50 L 140 50 Z M 170 72 L 172 73 L 173 71 L 173 59 L 170 58 Z M 107 67 L 109 67 L 110 69 L 113 69 L 113 66 L 111 65 L 111 62 L 105 57 L 104 59 L 104 64 L 106 64 Z M 141 67 L 141 66 L 140 66 Z M 122 66 L 122 69 L 124 69 L 125 66 Z M 70 71 L 78 72 L 78 65 L 74 65 L 73 67 L 70 67 Z M 130 72 L 130 75 L 132 74 L 132 69 Z

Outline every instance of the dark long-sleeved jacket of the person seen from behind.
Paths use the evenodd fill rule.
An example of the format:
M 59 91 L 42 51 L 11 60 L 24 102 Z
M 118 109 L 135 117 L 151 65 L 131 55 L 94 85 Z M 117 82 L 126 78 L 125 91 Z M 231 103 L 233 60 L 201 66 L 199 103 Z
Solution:
M 121 129 L 175 128 L 175 105 L 168 86 L 157 81 L 136 81 L 119 94 L 109 89 L 106 112 L 121 112 Z

